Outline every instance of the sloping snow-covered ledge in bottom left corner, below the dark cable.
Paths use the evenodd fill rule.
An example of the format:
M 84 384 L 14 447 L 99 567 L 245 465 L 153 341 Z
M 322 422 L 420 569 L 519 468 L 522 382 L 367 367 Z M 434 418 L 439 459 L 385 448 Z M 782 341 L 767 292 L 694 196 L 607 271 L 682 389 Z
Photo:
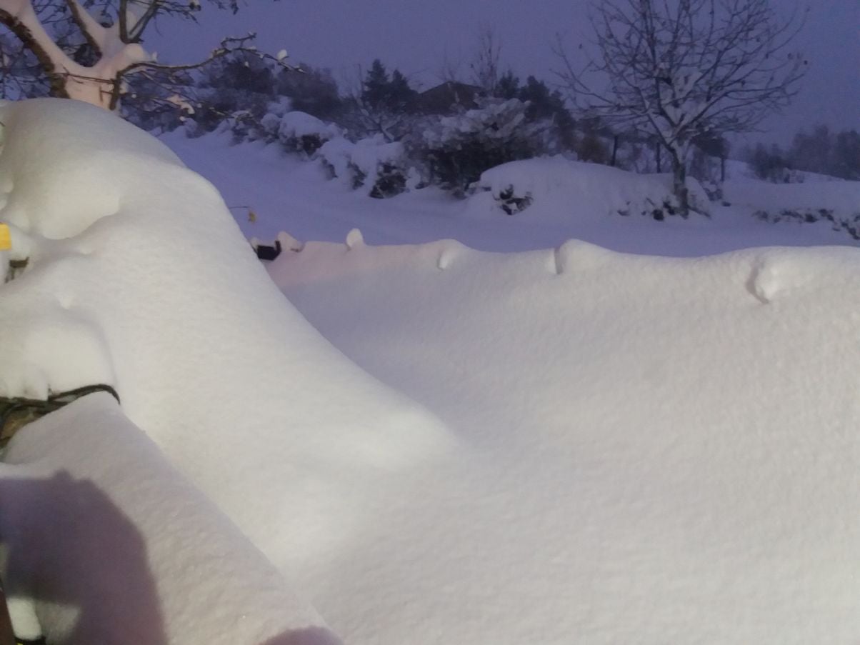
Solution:
M 28 426 L 6 459 L 24 464 L 0 464 L 18 636 L 39 636 L 21 620 L 34 598 L 53 643 L 339 642 L 111 396 Z

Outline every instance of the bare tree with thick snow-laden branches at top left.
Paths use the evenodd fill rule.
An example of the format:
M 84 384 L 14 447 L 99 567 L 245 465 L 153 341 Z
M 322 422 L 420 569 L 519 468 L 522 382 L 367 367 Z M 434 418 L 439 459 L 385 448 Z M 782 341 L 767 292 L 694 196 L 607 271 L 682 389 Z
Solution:
M 209 2 L 234 13 L 238 9 L 238 0 Z M 194 20 L 199 9 L 199 0 L 0 0 L 0 24 L 15 35 L 23 52 L 34 56 L 51 95 L 116 110 L 126 77 L 132 74 L 160 72 L 163 77 L 237 51 L 274 58 L 256 52 L 254 34 L 225 38 L 205 61 L 195 64 L 160 64 L 146 52 L 144 32 L 157 18 Z M 77 48 L 69 46 L 70 30 L 77 32 Z

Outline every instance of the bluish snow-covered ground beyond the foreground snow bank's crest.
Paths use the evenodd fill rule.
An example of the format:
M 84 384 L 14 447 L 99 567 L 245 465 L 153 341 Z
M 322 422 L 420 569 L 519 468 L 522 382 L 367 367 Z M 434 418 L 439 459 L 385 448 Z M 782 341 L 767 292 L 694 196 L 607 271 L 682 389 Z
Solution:
M 769 224 L 752 218 L 761 207 L 756 188 L 775 194 L 783 207 L 800 193 L 804 201 L 816 203 L 823 195 L 829 206 L 834 199 L 829 188 L 841 191 L 840 204 L 853 204 L 860 212 L 860 182 L 775 185 L 740 178 L 740 187 L 729 182 L 732 206 L 710 205 L 710 218 L 694 216 L 684 221 L 662 222 L 637 212 L 623 217 L 613 213 L 631 201 L 644 204 L 658 199 L 654 187 L 667 186 L 665 178 L 630 175 L 591 164 L 581 167 L 569 181 L 559 176 L 564 163 L 538 160 L 522 163 L 519 172 L 526 188 L 537 184 L 531 206 L 507 216 L 490 194 L 470 200 L 455 200 L 435 188 L 374 200 L 329 181 L 318 163 L 287 157 L 277 146 L 260 143 L 230 145 L 226 136 L 188 139 L 182 132 L 163 136 L 163 141 L 187 165 L 212 181 L 233 206 L 247 237 L 274 237 L 286 230 L 300 240 L 341 242 L 353 227 L 359 227 L 371 244 L 426 243 L 456 239 L 472 249 L 522 251 L 550 249 L 568 239 L 580 239 L 606 249 L 645 255 L 698 256 L 761 246 L 809 246 L 845 244 L 860 246 L 845 232 L 833 231 L 826 223 Z M 548 167 L 549 166 L 549 167 Z M 562 175 L 563 176 L 563 175 Z M 490 175 L 488 185 L 494 179 Z M 752 190 L 750 189 L 752 187 Z M 789 197 L 783 195 L 788 194 Z M 255 222 L 246 207 L 255 212 Z M 853 213 L 852 213 L 853 214 Z

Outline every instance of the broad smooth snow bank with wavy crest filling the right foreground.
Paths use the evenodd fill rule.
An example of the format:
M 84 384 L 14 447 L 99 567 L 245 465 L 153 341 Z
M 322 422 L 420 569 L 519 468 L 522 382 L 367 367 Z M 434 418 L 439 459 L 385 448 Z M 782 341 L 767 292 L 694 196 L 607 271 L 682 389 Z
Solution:
M 857 642 L 857 249 L 307 243 L 270 271 L 468 446 L 316 576 L 347 642 Z

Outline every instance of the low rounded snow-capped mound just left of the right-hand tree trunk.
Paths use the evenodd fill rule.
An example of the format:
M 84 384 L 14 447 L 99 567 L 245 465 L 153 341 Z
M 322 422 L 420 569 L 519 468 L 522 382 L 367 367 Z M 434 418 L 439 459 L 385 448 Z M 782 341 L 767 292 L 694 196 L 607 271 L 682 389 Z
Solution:
M 709 201 L 694 179 L 688 180 L 691 205 L 709 212 Z M 671 175 L 639 175 L 596 163 L 563 157 L 504 163 L 481 175 L 470 198 L 477 213 L 500 212 L 513 197 L 529 201 L 535 218 L 569 218 L 571 212 L 589 219 L 607 215 L 648 215 L 674 204 Z M 664 216 L 669 214 L 664 212 Z

